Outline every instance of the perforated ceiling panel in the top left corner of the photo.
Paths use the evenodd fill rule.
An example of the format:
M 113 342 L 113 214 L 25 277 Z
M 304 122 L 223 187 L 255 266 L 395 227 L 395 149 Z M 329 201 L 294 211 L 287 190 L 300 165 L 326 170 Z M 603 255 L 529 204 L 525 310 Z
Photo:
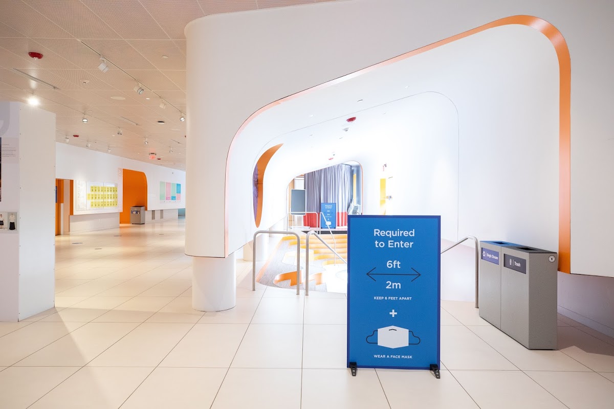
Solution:
M 28 37 L 71 38 L 68 31 L 55 25 L 41 13 L 18 0 L 2 0 L 0 23 Z

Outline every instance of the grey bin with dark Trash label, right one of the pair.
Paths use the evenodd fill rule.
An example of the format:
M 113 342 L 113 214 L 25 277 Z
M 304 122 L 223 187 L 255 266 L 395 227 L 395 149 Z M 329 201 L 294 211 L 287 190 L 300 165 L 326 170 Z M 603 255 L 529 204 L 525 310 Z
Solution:
M 501 331 L 529 350 L 556 350 L 558 254 L 502 249 Z

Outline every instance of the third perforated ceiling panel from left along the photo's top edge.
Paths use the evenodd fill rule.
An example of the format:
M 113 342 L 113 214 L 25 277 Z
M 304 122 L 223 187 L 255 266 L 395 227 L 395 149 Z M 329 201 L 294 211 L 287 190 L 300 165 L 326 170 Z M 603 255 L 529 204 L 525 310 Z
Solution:
M 82 0 L 82 2 L 124 39 L 168 39 L 157 21 L 137 0 Z M 174 2 L 169 1 L 170 4 Z M 181 7 L 177 5 L 177 7 Z

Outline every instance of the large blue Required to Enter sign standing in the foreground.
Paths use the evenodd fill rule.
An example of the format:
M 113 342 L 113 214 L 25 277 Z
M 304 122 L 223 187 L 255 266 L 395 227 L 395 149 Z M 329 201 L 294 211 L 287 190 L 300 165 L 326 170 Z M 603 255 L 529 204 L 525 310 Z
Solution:
M 348 216 L 348 367 L 440 363 L 440 216 Z

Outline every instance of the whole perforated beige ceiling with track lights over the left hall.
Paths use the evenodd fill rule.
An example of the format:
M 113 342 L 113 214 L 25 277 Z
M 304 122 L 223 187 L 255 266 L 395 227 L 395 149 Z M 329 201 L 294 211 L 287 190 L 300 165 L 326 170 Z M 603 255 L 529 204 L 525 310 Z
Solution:
M 0 100 L 25 102 L 34 93 L 57 115 L 58 142 L 91 142 L 142 161 L 155 152 L 158 164 L 185 169 L 185 25 L 209 14 L 321 1 L 335 0 L 0 0 Z M 101 56 L 107 72 L 98 69 Z

